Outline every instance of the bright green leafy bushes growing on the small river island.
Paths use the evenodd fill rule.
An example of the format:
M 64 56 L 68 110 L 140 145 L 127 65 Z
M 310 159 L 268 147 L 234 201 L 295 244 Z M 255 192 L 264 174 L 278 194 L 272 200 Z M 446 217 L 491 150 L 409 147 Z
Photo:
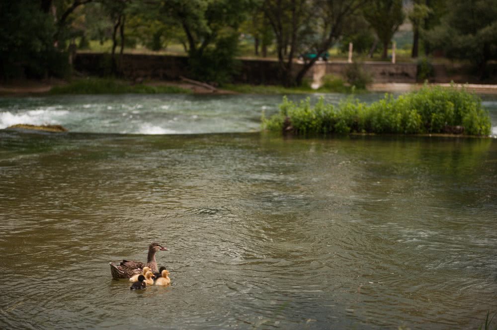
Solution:
M 326 133 L 463 133 L 488 135 L 491 121 L 481 99 L 454 87 L 429 87 L 394 98 L 392 95 L 372 104 L 351 98 L 338 106 L 321 98 L 311 106 L 310 99 L 295 103 L 283 98 L 278 114 L 265 118 L 269 131 L 297 134 Z

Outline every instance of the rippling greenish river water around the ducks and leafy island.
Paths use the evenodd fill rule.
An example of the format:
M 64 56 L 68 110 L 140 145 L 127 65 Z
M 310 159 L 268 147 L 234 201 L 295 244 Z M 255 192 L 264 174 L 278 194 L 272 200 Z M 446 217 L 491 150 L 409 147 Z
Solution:
M 0 328 L 477 329 L 497 312 L 495 138 L 259 132 L 280 101 L 0 98 L 0 128 L 71 131 L 0 130 Z M 170 287 L 111 279 L 152 241 Z

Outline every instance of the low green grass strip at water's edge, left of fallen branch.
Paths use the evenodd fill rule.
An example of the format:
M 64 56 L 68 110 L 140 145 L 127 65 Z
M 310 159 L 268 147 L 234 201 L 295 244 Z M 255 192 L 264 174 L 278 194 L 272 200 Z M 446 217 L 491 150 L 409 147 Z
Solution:
M 148 86 L 144 84 L 130 85 L 115 79 L 81 79 L 68 85 L 54 86 L 50 94 L 158 94 L 158 93 L 189 93 L 187 89 L 175 86 Z

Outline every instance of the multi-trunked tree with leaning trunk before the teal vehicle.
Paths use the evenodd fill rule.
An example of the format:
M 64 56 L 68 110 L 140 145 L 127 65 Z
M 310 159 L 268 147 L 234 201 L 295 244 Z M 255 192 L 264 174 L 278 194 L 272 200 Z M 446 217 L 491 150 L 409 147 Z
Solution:
M 331 48 L 342 36 L 344 25 L 370 0 L 264 0 L 262 8 L 276 38 L 276 52 L 283 85 L 301 85 L 318 57 L 294 74 L 294 58 L 301 51 L 318 54 Z

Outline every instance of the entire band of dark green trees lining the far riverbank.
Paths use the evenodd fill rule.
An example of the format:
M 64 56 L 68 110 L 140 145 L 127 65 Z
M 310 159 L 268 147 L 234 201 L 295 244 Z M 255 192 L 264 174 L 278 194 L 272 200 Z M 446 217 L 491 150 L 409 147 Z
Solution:
M 147 48 L 186 54 L 189 77 L 218 83 L 232 80 L 239 55 L 272 56 L 277 78 L 295 86 L 336 44 L 372 54 L 381 42 L 386 58 L 405 14 L 413 57 L 443 51 L 488 74 L 497 0 L 3 0 L 0 78 L 69 75 L 79 45 L 110 53 L 102 74 L 123 72 L 125 48 Z M 318 56 L 297 65 L 305 52 Z

